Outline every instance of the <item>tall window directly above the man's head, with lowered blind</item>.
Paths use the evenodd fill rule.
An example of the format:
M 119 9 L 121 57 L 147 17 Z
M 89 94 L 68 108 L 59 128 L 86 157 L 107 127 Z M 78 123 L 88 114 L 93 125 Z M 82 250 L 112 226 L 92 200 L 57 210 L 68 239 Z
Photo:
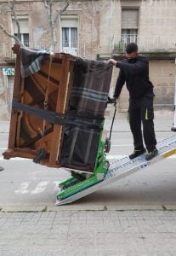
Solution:
M 138 35 L 138 9 L 122 9 L 122 42 L 136 43 Z

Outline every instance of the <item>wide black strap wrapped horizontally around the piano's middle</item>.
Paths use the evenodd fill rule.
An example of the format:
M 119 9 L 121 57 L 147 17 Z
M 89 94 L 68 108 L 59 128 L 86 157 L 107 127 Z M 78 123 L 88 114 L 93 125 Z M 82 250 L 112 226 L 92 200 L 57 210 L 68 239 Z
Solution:
M 12 108 L 23 110 L 26 113 L 31 113 L 42 119 L 46 119 L 49 123 L 55 125 L 65 125 L 70 127 L 80 126 L 88 129 L 102 130 L 102 118 L 93 118 L 93 116 L 83 116 L 82 114 L 77 113 L 55 113 L 53 111 L 36 108 L 20 102 L 13 102 Z M 96 123 L 98 124 L 89 122 L 88 120 L 90 119 L 96 120 Z

